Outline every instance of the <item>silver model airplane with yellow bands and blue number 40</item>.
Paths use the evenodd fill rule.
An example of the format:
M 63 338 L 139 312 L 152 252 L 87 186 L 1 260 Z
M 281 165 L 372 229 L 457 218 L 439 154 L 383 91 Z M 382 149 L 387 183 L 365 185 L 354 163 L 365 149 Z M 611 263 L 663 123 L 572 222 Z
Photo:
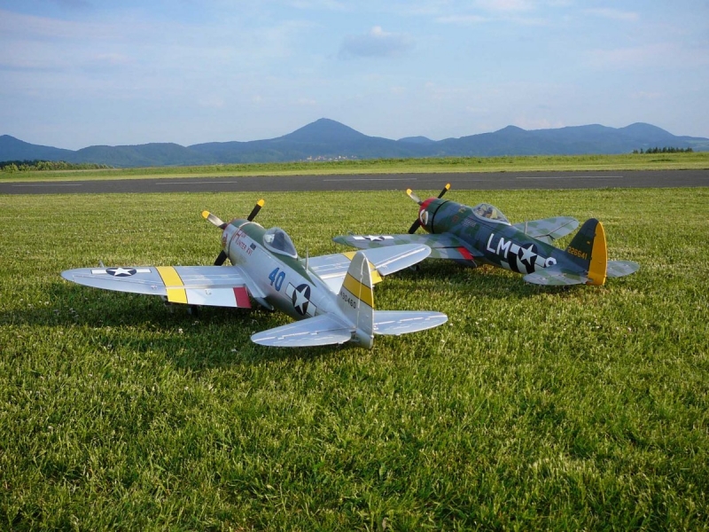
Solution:
M 66 280 L 118 292 L 160 295 L 168 303 L 251 308 L 249 296 L 267 309 L 297 321 L 253 334 L 265 346 L 304 347 L 346 341 L 371 348 L 375 334 L 398 335 L 444 324 L 440 312 L 374 309 L 372 286 L 388 275 L 425 259 L 422 244 L 392 246 L 350 254 L 302 259 L 291 238 L 278 227 L 253 222 L 260 200 L 246 219 L 224 223 L 202 216 L 222 229 L 222 252 L 214 266 L 140 266 L 79 268 L 62 271 Z M 226 259 L 231 266 L 223 266 Z

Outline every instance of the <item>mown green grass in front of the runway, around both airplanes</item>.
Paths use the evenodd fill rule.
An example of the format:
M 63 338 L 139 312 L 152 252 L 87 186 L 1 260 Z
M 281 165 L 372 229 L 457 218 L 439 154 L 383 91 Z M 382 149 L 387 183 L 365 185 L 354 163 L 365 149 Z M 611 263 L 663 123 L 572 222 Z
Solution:
M 709 189 L 448 196 L 512 222 L 596 216 L 641 270 L 557 290 L 427 262 L 377 306 L 449 324 L 261 348 L 251 333 L 287 317 L 191 317 L 58 275 L 211 263 L 200 211 L 257 197 L 0 197 L 0 528 L 709 528 Z M 416 213 L 402 192 L 266 200 L 259 222 L 301 254 Z

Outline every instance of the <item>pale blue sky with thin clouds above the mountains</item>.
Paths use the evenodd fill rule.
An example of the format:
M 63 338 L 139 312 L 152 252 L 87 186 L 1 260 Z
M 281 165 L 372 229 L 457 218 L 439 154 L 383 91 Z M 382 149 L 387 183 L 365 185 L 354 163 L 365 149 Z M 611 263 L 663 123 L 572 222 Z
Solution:
M 387 138 L 709 137 L 709 2 L 0 0 L 0 134 L 191 145 L 323 117 Z

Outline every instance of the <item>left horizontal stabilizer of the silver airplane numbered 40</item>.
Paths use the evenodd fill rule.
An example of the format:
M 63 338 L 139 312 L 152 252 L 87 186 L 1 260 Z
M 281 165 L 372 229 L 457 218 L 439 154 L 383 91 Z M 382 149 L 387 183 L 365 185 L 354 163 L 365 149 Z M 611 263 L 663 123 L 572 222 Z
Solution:
M 307 348 L 341 344 L 352 340 L 354 327 L 342 325 L 327 314 L 308 317 L 298 322 L 282 325 L 253 334 L 251 340 L 261 346 L 275 348 Z

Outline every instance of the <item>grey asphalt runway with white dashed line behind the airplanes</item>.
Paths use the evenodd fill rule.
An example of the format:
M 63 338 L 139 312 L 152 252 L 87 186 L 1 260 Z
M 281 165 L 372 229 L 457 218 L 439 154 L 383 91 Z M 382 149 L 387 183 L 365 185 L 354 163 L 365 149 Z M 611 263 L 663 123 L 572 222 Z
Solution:
M 358 174 L 332 176 L 167 177 L 105 181 L 0 183 L 0 194 L 164 192 L 312 192 L 664 188 L 709 186 L 709 170 L 588 172 L 485 172 L 453 174 Z

